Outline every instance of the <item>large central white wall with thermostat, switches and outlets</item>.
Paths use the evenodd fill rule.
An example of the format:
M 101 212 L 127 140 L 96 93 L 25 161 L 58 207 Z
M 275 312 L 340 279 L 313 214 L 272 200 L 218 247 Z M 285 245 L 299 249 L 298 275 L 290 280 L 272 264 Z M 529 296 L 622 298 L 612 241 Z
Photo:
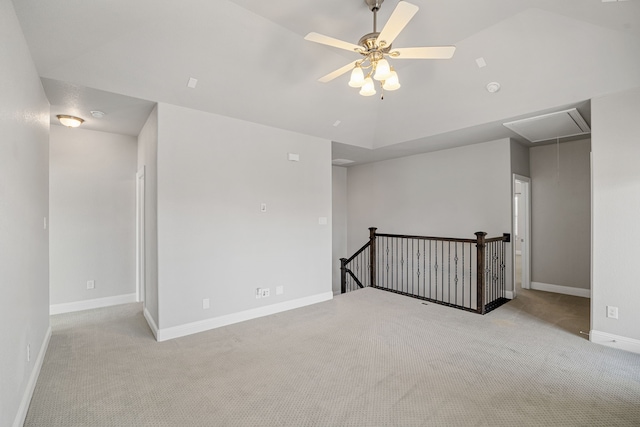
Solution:
M 330 141 L 168 104 L 158 124 L 159 328 L 331 298 Z

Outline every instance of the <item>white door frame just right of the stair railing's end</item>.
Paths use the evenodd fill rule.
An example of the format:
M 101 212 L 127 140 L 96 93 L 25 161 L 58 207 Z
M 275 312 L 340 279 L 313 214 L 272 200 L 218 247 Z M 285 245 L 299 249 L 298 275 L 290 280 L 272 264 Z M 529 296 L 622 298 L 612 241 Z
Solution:
M 521 235 L 522 235 L 522 231 L 524 232 L 524 244 L 521 246 L 522 250 L 521 250 L 521 257 L 522 257 L 522 289 L 531 289 L 531 178 L 526 177 L 526 176 L 522 176 L 522 175 L 518 175 L 518 174 L 513 174 L 513 182 L 511 185 L 512 188 L 512 194 L 511 194 L 511 203 L 512 203 L 512 215 L 511 215 L 511 222 L 512 222 L 512 230 L 516 229 L 516 181 L 520 181 L 522 183 L 522 193 L 520 194 L 520 196 L 522 197 L 522 201 L 524 204 L 524 209 L 522 209 L 523 212 L 520 212 L 520 216 L 523 216 L 522 214 L 524 214 L 524 226 L 522 227 L 523 230 L 521 230 Z M 513 246 L 513 251 L 512 251 L 512 257 L 513 257 L 513 296 L 516 296 L 516 244 L 515 244 L 515 239 L 518 238 L 518 236 L 515 236 L 514 233 L 514 244 Z

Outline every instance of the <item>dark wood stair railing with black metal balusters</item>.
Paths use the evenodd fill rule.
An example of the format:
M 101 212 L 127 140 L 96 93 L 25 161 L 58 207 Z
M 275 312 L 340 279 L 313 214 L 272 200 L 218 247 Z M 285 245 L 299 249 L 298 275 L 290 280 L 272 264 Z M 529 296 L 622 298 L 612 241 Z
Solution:
M 475 239 L 411 236 L 371 227 L 369 241 L 340 259 L 341 291 L 369 286 L 485 314 L 509 301 L 505 257 L 511 236 L 475 234 Z

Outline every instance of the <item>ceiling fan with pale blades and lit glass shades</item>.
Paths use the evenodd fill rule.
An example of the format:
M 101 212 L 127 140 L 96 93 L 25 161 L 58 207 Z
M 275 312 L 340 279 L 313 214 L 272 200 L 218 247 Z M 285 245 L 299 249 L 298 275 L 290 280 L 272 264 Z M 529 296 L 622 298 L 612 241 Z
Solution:
M 398 73 L 390 66 L 387 57 L 394 59 L 450 59 L 456 50 L 455 46 L 405 47 L 393 48 L 392 43 L 418 12 L 418 6 L 400 1 L 382 31 L 378 32 L 378 10 L 384 0 L 364 0 L 373 12 L 373 32 L 360 38 L 358 44 L 334 39 L 318 33 L 309 33 L 305 40 L 327 46 L 337 47 L 359 53 L 363 58 L 348 63 L 344 67 L 318 79 L 322 83 L 329 82 L 349 70 L 351 79 L 349 86 L 360 88 L 360 95 L 376 94 L 373 80 L 378 80 L 382 90 L 392 91 L 400 88 Z M 365 76 L 364 71 L 367 71 Z

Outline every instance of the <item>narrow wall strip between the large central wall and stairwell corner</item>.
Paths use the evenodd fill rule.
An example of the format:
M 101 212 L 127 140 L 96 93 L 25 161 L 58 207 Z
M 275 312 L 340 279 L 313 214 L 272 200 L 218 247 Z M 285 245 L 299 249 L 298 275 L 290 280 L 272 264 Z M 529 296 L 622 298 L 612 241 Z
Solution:
M 341 166 L 331 168 L 332 177 L 332 218 L 333 233 L 331 257 L 333 270 L 333 293 L 341 290 L 340 258 L 347 258 L 347 169 Z

